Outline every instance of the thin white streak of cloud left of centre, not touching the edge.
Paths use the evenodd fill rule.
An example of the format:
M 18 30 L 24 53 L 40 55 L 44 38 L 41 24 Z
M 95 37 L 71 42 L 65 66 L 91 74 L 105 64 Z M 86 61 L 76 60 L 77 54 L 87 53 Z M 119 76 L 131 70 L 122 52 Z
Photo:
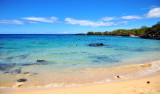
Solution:
M 24 17 L 22 19 L 29 20 L 29 21 L 47 22 L 47 23 L 54 23 L 54 22 L 58 21 L 57 17 L 50 17 L 50 18 L 45 18 L 45 17 Z

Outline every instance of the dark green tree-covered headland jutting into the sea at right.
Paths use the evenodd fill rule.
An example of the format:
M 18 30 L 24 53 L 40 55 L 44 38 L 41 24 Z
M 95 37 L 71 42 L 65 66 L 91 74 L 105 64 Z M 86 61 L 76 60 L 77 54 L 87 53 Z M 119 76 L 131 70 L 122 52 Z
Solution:
M 160 22 L 152 27 L 142 26 L 139 29 L 117 29 L 111 32 L 87 32 L 86 35 L 139 36 L 141 38 L 160 39 Z

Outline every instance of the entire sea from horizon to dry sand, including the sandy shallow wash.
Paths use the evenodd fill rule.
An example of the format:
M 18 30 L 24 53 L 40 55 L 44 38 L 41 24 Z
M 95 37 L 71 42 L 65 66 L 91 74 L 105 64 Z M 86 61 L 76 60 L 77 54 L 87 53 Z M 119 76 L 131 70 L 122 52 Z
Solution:
M 104 46 L 89 46 L 95 43 Z M 136 73 L 144 75 L 152 71 L 151 68 L 146 71 L 146 68 L 153 65 L 144 63 L 157 60 L 160 60 L 160 40 L 98 35 L 1 34 L 0 87 L 62 87 L 110 82 L 120 77 L 133 78 Z M 133 68 L 135 64 L 139 67 Z M 154 66 L 158 66 L 154 69 L 160 67 Z M 18 82 L 21 78 L 27 81 Z

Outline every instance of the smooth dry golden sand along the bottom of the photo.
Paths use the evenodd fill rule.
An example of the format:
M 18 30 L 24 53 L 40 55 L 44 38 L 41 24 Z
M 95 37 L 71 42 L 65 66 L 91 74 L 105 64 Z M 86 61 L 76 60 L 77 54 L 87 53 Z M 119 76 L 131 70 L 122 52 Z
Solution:
M 0 89 L 0 94 L 160 94 L 160 72 L 157 72 L 156 75 L 150 75 L 149 77 L 136 80 L 81 87 Z

